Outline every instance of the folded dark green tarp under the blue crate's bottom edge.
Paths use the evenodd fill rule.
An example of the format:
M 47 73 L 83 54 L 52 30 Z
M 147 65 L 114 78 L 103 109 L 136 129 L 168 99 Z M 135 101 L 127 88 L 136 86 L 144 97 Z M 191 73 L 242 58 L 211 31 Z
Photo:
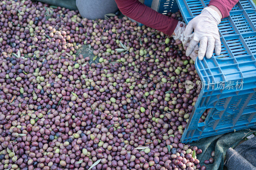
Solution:
M 250 130 L 255 131 L 256 129 Z M 228 148 L 235 148 L 243 139 L 251 134 L 248 132 L 250 131 L 241 130 L 227 134 L 216 135 L 200 139 L 198 142 L 192 142 L 190 145 L 197 146 L 198 148 L 202 149 L 203 152 L 197 155 L 197 159 L 200 160 L 201 166 L 205 165 L 204 160 L 211 158 L 211 152 L 215 151 L 214 162 L 213 164 L 205 165 L 206 169 L 222 170 L 224 166 L 224 158 Z M 256 151 L 254 151 L 254 155 L 255 152 Z

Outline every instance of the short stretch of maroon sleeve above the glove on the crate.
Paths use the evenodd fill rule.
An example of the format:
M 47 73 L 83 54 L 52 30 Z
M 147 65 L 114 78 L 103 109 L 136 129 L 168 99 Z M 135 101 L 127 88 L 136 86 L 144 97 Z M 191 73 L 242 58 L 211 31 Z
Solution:
M 229 16 L 229 12 L 236 5 L 239 0 L 211 0 L 209 3 L 209 7 L 212 6 L 217 7 L 220 10 L 221 18 L 226 18 Z M 218 12 L 218 9 L 214 9 Z

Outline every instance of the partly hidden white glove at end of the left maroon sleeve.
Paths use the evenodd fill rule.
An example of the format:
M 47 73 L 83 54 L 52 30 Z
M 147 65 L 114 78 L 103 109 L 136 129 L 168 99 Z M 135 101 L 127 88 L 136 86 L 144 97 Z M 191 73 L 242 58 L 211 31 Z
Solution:
M 181 27 L 180 24 L 183 24 L 183 26 Z M 173 35 L 172 37 L 175 40 L 180 39 L 180 41 L 182 42 L 182 45 L 188 47 L 189 46 L 189 38 L 184 37 L 184 35 L 183 35 L 183 32 L 185 31 L 185 28 L 186 28 L 186 24 L 184 22 L 179 21 L 175 30 L 174 30 L 175 35 Z M 198 45 L 196 45 L 194 47 L 194 49 L 192 50 L 192 52 L 190 52 L 190 54 L 187 55 L 194 61 L 196 60 L 196 57 L 197 57 L 197 54 L 195 52 L 196 50 L 198 51 Z

